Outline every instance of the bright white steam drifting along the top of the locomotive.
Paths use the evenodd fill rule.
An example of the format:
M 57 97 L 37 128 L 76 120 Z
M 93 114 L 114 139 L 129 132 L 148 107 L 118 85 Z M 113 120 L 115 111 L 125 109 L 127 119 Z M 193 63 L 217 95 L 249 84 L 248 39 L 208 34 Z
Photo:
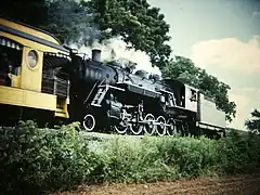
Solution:
M 106 44 L 100 44 L 95 42 L 92 47 L 80 47 L 78 48 L 76 43 L 70 43 L 69 48 L 78 49 L 79 53 L 86 53 L 91 57 L 91 50 L 94 48 L 101 49 L 101 60 L 109 61 L 113 60 L 113 50 L 114 50 L 114 60 L 125 58 L 136 63 L 135 70 L 144 69 L 150 74 L 158 74 L 161 76 L 161 73 L 157 66 L 153 67 L 150 62 L 150 56 L 142 51 L 135 51 L 134 49 L 128 49 L 126 42 L 119 38 L 109 39 Z

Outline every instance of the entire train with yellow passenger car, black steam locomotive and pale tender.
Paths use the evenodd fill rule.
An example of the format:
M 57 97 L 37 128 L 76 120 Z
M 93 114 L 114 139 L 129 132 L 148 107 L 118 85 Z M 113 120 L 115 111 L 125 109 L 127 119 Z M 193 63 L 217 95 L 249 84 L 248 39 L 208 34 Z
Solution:
M 0 17 L 0 109 L 10 119 L 81 121 L 86 131 L 197 135 L 225 130 L 225 114 L 185 83 L 61 46 L 43 30 Z

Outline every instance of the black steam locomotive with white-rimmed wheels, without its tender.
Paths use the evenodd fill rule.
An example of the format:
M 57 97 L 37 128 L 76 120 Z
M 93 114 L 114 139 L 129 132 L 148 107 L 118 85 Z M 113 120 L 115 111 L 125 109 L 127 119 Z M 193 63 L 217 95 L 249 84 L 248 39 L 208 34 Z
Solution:
M 84 58 L 70 50 L 69 74 L 73 121 L 87 131 L 120 134 L 196 134 L 199 92 L 158 75 L 101 62 L 101 51 Z M 222 129 L 221 129 L 222 130 Z

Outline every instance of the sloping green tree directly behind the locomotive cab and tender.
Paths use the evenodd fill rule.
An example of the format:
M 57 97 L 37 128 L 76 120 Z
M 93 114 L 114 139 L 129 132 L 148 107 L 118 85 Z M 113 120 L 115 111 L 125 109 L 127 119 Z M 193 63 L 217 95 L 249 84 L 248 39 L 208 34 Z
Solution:
M 180 80 L 212 98 L 217 107 L 225 112 L 226 120 L 232 121 L 232 116 L 235 117 L 236 105 L 234 102 L 230 102 L 227 96 L 230 86 L 208 75 L 205 69 L 196 67 L 190 58 L 183 56 L 171 58 L 168 65 L 162 68 L 161 74 L 164 78 L 169 77 Z

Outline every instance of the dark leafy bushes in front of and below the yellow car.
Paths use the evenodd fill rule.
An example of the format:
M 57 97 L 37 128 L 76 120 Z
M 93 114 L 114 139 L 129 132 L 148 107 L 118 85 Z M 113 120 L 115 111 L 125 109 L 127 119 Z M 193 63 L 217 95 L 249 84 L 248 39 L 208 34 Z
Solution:
M 0 188 L 27 194 L 88 181 L 95 158 L 76 125 L 55 131 L 27 121 L 17 129 L 1 129 Z

